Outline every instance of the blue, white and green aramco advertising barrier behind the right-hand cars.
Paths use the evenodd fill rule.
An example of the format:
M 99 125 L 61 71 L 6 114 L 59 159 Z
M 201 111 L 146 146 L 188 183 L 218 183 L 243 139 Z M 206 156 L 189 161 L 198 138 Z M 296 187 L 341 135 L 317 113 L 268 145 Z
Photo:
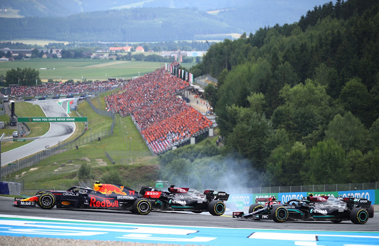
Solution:
M 274 195 L 275 198 L 283 203 L 290 201 L 291 199 L 302 199 L 307 196 L 308 193 L 314 193 L 314 195 L 329 195 L 338 197 L 339 195 L 343 197 L 353 196 L 355 198 L 365 198 L 371 201 L 371 204 L 379 204 L 379 189 L 366 189 L 366 190 L 345 190 L 345 191 L 330 191 L 330 192 L 283 192 L 283 193 L 254 193 L 254 194 L 230 194 L 228 203 L 239 203 L 243 202 L 244 207 L 249 207 L 255 204 L 255 199 L 257 198 L 269 198 Z M 239 204 L 239 206 L 241 206 Z M 234 206 L 231 206 L 234 207 Z

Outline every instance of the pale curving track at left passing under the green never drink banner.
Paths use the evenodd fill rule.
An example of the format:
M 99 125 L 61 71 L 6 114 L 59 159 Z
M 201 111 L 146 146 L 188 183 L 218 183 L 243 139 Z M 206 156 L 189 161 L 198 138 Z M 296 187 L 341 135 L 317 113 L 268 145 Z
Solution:
M 69 117 L 69 115 L 66 112 L 68 100 L 62 103 L 62 106 L 58 104 L 57 100 L 41 100 L 26 102 L 35 105 L 35 107 L 38 107 L 37 105 L 39 105 L 42 108 L 46 117 Z M 74 133 L 74 131 L 74 122 L 50 122 L 50 129 L 43 136 L 37 138 L 36 140 L 28 144 L 18 147 L 17 149 L 2 153 L 1 165 L 4 166 L 8 163 L 13 163 L 18 159 L 42 151 L 45 149 L 46 146 L 54 146 L 58 144 L 58 142 L 70 137 L 72 133 Z

